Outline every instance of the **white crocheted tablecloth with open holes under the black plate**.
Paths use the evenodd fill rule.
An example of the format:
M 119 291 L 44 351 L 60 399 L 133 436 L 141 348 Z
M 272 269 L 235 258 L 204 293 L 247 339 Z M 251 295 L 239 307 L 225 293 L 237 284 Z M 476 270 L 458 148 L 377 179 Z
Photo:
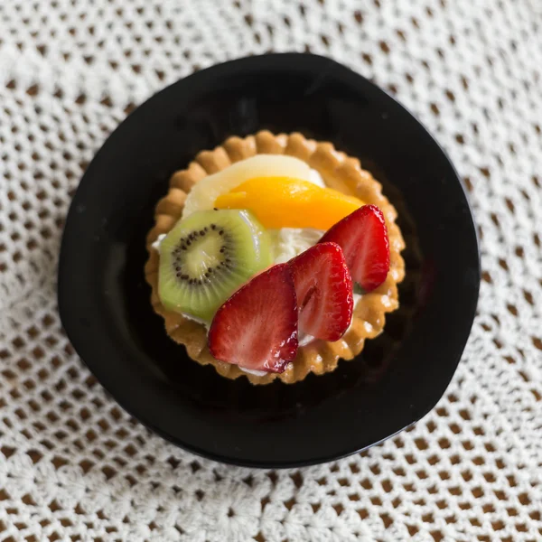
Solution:
M 78 359 L 55 299 L 70 198 L 126 112 L 270 50 L 329 55 L 416 113 L 470 192 L 483 266 L 433 412 L 277 472 L 151 435 Z M 0 542 L 542 540 L 541 70 L 540 0 L 2 0 Z

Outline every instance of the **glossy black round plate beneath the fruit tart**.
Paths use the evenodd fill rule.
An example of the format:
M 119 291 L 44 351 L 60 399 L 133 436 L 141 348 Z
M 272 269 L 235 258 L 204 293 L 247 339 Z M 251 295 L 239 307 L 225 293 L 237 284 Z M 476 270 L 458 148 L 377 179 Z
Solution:
M 143 271 L 145 235 L 171 173 L 229 135 L 262 128 L 300 131 L 360 157 L 385 182 L 409 245 L 403 308 L 386 332 L 332 374 L 292 386 L 253 387 L 188 359 L 154 314 Z M 70 207 L 59 305 L 80 357 L 142 423 L 218 461 L 285 467 L 360 451 L 435 406 L 467 341 L 479 285 L 462 183 L 424 126 L 357 73 L 288 53 L 197 72 L 118 126 Z

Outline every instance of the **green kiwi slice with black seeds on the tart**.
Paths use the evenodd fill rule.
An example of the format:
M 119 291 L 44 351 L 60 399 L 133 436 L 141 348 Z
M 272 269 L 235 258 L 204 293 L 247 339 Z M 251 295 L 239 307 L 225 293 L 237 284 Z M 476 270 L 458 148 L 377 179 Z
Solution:
M 201 210 L 160 243 L 164 307 L 210 322 L 240 285 L 273 263 L 266 229 L 248 210 Z

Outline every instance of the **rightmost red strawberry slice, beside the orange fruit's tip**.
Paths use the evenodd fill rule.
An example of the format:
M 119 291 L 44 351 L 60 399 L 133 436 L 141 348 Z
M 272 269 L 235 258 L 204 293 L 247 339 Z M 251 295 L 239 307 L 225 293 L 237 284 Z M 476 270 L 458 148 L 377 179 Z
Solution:
M 376 205 L 364 205 L 337 222 L 320 239 L 337 243 L 344 253 L 352 280 L 366 292 L 381 285 L 389 271 L 388 229 Z

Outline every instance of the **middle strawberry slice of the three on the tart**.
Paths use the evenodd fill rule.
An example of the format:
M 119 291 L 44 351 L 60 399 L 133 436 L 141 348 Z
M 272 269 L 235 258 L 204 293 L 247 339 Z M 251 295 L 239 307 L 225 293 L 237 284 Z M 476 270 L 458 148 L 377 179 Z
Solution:
M 352 319 L 352 279 L 341 247 L 320 243 L 290 261 L 299 306 L 299 329 L 339 341 Z

